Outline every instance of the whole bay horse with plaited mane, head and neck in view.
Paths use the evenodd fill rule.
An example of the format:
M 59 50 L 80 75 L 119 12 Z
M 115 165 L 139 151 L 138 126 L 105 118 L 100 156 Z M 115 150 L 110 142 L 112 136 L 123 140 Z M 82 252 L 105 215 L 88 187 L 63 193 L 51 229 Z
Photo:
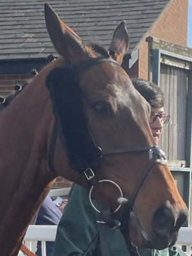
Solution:
M 188 209 L 150 132 L 150 106 L 120 67 L 125 22 L 103 54 L 48 4 L 45 22 L 61 57 L 0 113 L 0 255 L 17 255 L 58 176 L 90 190 L 90 202 L 110 212 L 106 223 L 121 222 L 128 246 L 172 246 Z

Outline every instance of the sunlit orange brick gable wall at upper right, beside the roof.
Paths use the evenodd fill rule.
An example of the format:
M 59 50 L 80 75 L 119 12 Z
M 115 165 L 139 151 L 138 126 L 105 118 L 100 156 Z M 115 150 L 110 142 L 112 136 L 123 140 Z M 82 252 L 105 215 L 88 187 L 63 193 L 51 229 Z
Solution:
M 188 35 L 188 0 L 172 0 L 161 13 L 147 36 L 186 46 Z M 139 49 L 138 77 L 148 79 L 148 44 L 143 40 Z

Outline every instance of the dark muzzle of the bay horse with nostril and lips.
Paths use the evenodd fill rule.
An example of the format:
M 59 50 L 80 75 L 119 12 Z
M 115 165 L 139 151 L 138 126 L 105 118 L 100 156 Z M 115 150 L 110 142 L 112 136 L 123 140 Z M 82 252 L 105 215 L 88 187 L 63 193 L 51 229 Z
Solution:
M 144 248 L 163 250 L 177 241 L 179 228 L 188 220 L 188 209 L 175 209 L 169 201 L 154 212 L 150 231 L 132 211 L 129 218 L 129 239 L 133 244 Z

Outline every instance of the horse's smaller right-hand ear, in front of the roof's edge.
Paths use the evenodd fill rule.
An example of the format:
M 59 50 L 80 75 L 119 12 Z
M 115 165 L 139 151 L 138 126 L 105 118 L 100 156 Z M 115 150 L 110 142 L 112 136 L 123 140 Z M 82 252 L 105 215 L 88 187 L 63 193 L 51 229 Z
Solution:
M 125 52 L 129 48 L 129 36 L 126 28 L 126 21 L 123 20 L 115 29 L 113 33 L 113 39 L 109 46 L 109 54 L 119 64 L 122 64 L 122 60 Z

